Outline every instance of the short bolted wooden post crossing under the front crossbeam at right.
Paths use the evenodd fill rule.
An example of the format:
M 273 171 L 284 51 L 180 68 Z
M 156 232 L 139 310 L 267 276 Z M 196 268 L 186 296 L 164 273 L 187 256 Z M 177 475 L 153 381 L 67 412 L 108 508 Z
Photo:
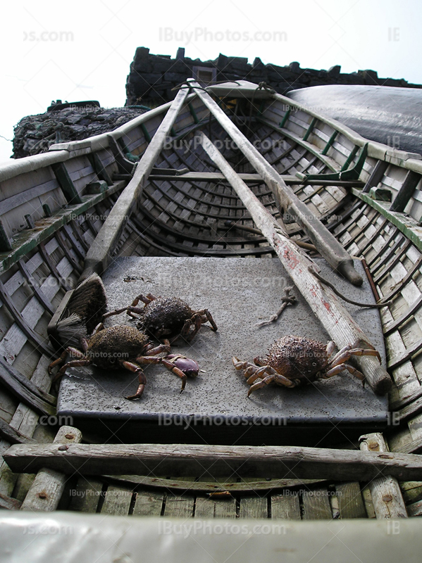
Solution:
M 367 434 L 361 436 L 359 441 L 361 451 L 388 452 L 387 444 L 382 434 Z M 371 480 L 368 486 L 371 491 L 373 508 L 377 518 L 407 518 L 402 491 L 400 491 L 399 483 L 395 477 L 385 474 L 379 479 Z

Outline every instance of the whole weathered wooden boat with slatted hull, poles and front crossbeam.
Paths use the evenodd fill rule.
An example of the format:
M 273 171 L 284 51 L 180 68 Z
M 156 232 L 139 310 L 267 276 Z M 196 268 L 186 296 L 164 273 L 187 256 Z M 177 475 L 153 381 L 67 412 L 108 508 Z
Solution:
M 206 137 L 197 143 L 199 132 Z M 242 140 L 233 145 L 233 139 L 242 139 L 239 135 L 259 151 L 261 160 Z M 235 171 L 233 182 L 246 183 L 263 205 L 267 219 L 271 217 L 268 224 L 257 228 L 250 209 L 228 181 L 227 170 L 223 173 L 210 156 L 209 145 L 206 150 L 206 138 Z M 164 475 L 130 474 L 133 467 L 125 450 L 129 445 L 120 444 L 118 454 L 113 443 L 78 446 L 82 438 L 76 429 L 66 425 L 60 429 L 47 373 L 55 354 L 47 326 L 82 271 L 101 274 L 115 258 L 273 258 L 276 245 L 263 233 L 276 229 L 273 220 L 280 226 L 277 236 L 288 232 L 285 248 L 296 252 L 295 241 L 304 243 L 302 254 L 316 256 L 318 235 L 310 238 L 308 225 L 304 229 L 298 215 L 287 221 L 283 194 L 271 189 L 272 172 L 262 157 L 279 175 L 275 178 L 281 177 L 306 204 L 309 215 L 325 226 L 324 232 L 350 255 L 364 259 L 376 300 L 391 302 L 380 308 L 393 383 L 389 424 L 384 434 L 361 438 L 360 450 L 356 440 L 335 450 L 302 448 L 300 438 L 297 448 L 260 446 L 254 450 L 259 457 L 255 472 L 246 464 L 249 469 L 243 474 L 236 471 L 236 459 L 245 460 L 244 450 L 236 448 L 243 446 L 223 448 L 218 438 L 217 445 L 197 445 L 196 450 L 192 445 L 184 450 L 157 444 L 153 453 L 148 448 L 154 446 L 146 445 L 142 462 L 165 451 L 174 472 L 169 473 L 167 465 Z M 134 164 L 135 160 L 139 162 Z M 421 177 L 420 155 L 368 141 L 340 122 L 243 81 L 206 91 L 192 82 L 173 103 L 111 133 L 57 144 L 47 153 L 1 167 L 0 453 L 6 461 L 0 466 L 0 507 L 183 518 L 421 515 L 422 465 L 414 456 L 422 448 Z M 331 239 L 327 240 L 330 255 Z M 382 393 L 388 382 L 384 375 L 381 379 Z M 357 438 L 356 432 L 359 429 Z M 67 479 L 41 469 L 62 471 L 57 448 L 83 457 L 88 455 L 85 446 L 97 448 L 89 450 L 97 465 L 87 472 L 73 472 Z M 250 457 L 253 445 L 244 447 Z M 368 467 L 375 467 L 371 455 L 380 452 L 376 472 L 381 477 L 375 479 Z M 298 457 L 290 462 L 303 466 L 295 479 L 265 462 L 266 455 L 269 459 L 293 454 Z M 123 475 L 116 469 L 116 455 L 126 467 Z M 108 458 L 113 463 L 106 464 Z M 195 459 L 209 468 L 224 459 L 228 473 L 219 467 L 200 477 Z M 32 474 L 25 471 L 28 460 Z M 100 471 L 103 463 L 106 469 Z M 207 497 L 210 492 L 221 498 Z

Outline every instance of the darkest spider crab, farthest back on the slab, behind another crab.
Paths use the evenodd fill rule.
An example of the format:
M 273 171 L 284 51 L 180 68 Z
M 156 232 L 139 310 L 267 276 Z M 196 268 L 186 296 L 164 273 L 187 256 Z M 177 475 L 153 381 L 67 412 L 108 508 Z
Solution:
M 137 307 L 139 301 L 144 303 L 144 307 Z M 168 338 L 174 342 L 179 336 L 183 336 L 190 342 L 201 328 L 201 324 L 205 322 L 211 324 L 211 330 L 217 330 L 217 325 L 208 309 L 194 311 L 185 301 L 177 297 L 156 297 L 152 293 L 146 296 L 139 295 L 132 305 L 118 312 L 124 310 L 138 320 L 137 328 L 140 331 L 154 336 L 157 340 Z

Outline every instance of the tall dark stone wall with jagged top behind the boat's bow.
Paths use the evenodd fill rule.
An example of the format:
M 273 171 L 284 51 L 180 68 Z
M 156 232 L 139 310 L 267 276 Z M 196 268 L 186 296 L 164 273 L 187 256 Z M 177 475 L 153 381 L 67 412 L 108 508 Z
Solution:
M 146 47 L 138 47 L 130 65 L 126 82 L 126 106 L 139 103 L 159 106 L 170 101 L 176 92 L 172 88 L 192 77 L 195 66 L 216 69 L 216 80 L 249 80 L 266 82 L 279 94 L 290 90 L 323 84 L 366 84 L 422 88 L 421 84 L 409 84 L 406 80 L 378 78 L 375 70 L 358 70 L 351 74 L 341 72 L 340 65 L 329 70 L 301 68 L 299 63 L 287 66 L 264 65 L 255 58 L 250 65 L 247 58 L 219 55 L 215 61 L 200 61 L 185 57 L 185 49 L 179 49 L 176 58 L 166 55 L 151 55 Z

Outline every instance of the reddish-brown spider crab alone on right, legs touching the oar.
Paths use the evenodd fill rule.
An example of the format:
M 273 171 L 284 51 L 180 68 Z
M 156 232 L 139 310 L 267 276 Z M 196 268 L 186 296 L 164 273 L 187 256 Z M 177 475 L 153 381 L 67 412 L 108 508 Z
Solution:
M 236 369 L 244 369 L 244 377 L 247 377 L 247 384 L 251 386 L 248 397 L 256 389 L 269 384 L 285 387 L 304 386 L 312 381 L 340 374 L 343 369 L 347 369 L 365 384 L 364 374 L 345 362 L 354 355 L 377 356 L 381 362 L 379 352 L 373 348 L 356 348 L 349 345 L 331 358 L 334 350 L 333 341 L 325 345 L 300 336 L 282 336 L 268 348 L 266 358 L 254 358 L 252 364 L 234 357 L 232 362 Z

